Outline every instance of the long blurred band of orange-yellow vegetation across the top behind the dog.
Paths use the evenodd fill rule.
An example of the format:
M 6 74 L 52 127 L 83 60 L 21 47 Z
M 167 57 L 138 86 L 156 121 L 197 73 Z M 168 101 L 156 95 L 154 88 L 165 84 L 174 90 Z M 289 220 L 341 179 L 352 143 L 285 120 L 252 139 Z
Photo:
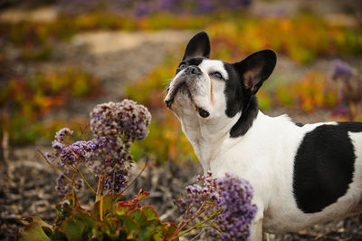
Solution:
M 237 60 L 245 53 L 272 48 L 298 63 L 317 57 L 362 53 L 362 27 L 329 23 L 316 14 L 264 16 L 240 12 L 202 15 L 151 14 L 125 17 L 101 11 L 68 16 L 51 23 L 1 23 L 6 42 L 24 46 L 24 59 L 46 59 L 53 39 L 70 39 L 90 30 L 205 29 L 212 38 L 216 56 Z M 278 34 L 275 31 L 278 30 Z

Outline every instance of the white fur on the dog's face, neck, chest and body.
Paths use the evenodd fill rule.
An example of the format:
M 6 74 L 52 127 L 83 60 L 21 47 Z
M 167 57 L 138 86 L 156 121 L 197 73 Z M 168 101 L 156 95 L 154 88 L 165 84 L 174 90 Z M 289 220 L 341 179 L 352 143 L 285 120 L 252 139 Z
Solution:
M 176 93 L 172 111 L 180 120 L 182 130 L 205 171 L 210 169 L 214 177 L 224 177 L 226 172 L 233 173 L 251 182 L 254 189 L 252 202 L 257 205 L 258 212 L 252 223 L 250 239 L 260 240 L 262 230 L 271 233 L 297 231 L 333 217 L 344 217 L 352 210 L 361 210 L 362 133 L 348 133 L 353 140 L 357 160 L 353 183 L 347 194 L 320 212 L 303 213 L 293 196 L 295 155 L 306 133 L 322 124 L 337 123 L 298 127 L 286 115 L 271 118 L 259 111 L 252 128 L 243 137 L 232 139 L 229 131 L 241 113 L 233 118 L 225 115 L 225 83 L 209 77 L 211 72 L 217 71 L 227 79 L 223 66 L 220 61 L 210 60 L 199 65 L 206 76 L 203 84 L 210 86 L 205 88 L 207 92 L 204 92 L 202 99 L 205 101 L 203 108 L 210 112 L 210 116 L 200 117 L 195 111 L 195 102 L 184 90 Z M 172 82 L 176 81 L 177 75 Z M 196 96 L 193 98 L 195 100 Z

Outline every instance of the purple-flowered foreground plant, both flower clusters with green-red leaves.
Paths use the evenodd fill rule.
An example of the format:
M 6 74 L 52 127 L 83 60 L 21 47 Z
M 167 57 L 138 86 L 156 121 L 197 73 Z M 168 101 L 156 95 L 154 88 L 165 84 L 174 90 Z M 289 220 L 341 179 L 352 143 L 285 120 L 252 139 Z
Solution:
M 177 226 L 162 222 L 154 207 L 140 204 L 149 195 L 143 189 L 132 200 L 121 200 L 133 159 L 130 146 L 146 138 L 150 120 L 147 108 L 135 101 L 108 102 L 90 112 L 94 139 L 71 143 L 72 130 L 56 132 L 54 151 L 44 158 L 60 172 L 56 190 L 64 198 L 56 205 L 57 218 L 52 226 L 40 217 L 25 217 L 20 240 L 178 240 L 195 228 L 205 227 L 223 240 L 246 239 L 256 212 L 251 203 L 252 187 L 233 175 L 216 179 L 209 172 L 198 177 L 205 187 L 187 187 L 186 197 L 177 201 L 184 207 Z M 96 189 L 82 175 L 81 165 L 98 177 Z M 76 197 L 84 183 L 95 195 L 91 210 L 81 207 Z M 184 231 L 195 220 L 198 222 Z

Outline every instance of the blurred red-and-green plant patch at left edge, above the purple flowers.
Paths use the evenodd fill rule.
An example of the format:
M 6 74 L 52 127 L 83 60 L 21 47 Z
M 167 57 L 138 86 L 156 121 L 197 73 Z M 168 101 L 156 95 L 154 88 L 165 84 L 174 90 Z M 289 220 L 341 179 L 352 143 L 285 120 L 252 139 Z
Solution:
M 66 106 L 71 98 L 84 98 L 100 94 L 100 81 L 87 72 L 69 68 L 57 72 L 38 72 L 29 79 L 21 77 L 7 80 L 0 89 L 0 107 L 4 110 L 1 130 L 7 130 L 12 144 L 26 144 L 45 137 L 52 138 L 62 127 L 60 121 L 44 122 L 49 111 Z M 82 120 L 73 120 L 75 123 Z

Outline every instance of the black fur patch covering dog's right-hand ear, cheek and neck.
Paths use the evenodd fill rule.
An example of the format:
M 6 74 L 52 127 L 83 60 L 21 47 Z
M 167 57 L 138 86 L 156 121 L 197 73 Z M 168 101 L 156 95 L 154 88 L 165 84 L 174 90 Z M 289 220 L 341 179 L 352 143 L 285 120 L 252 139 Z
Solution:
M 272 50 L 252 53 L 238 63 L 224 63 L 229 78 L 226 80 L 226 115 L 232 118 L 242 111 L 242 115 L 230 130 L 230 137 L 243 136 L 258 115 L 258 101 L 255 93 L 273 71 L 276 54 Z

